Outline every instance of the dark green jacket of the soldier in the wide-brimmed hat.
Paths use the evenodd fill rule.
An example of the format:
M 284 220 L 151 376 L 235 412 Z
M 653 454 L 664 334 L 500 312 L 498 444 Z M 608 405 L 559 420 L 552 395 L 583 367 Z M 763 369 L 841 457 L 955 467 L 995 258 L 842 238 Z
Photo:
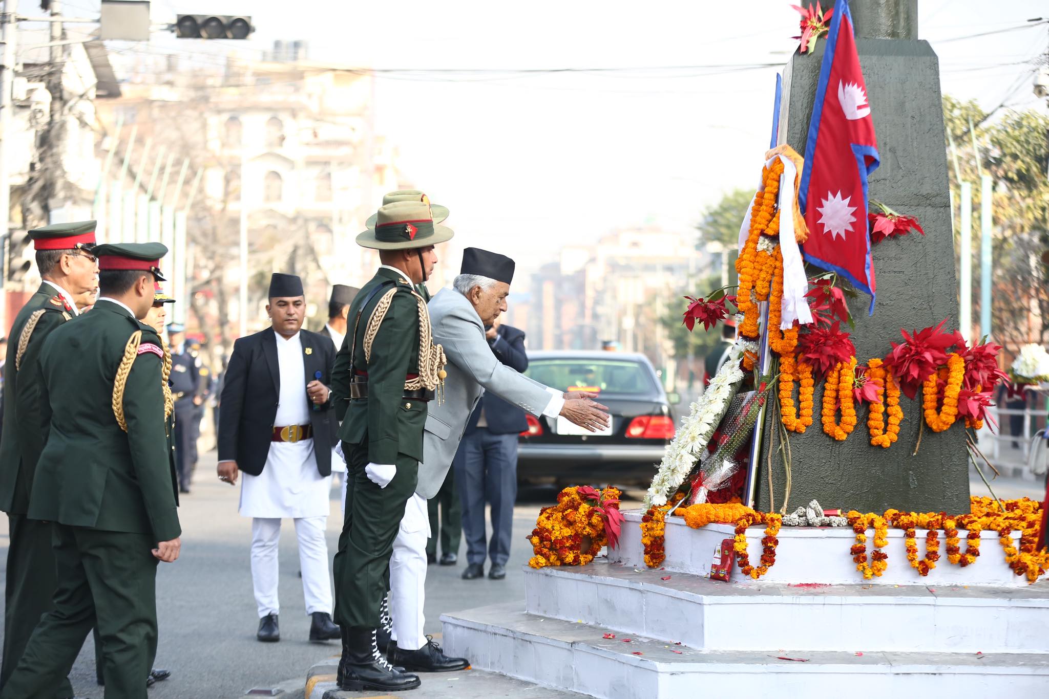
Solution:
M 398 291 L 379 326 L 371 346 L 371 361 L 366 362 L 364 335 L 368 319 L 380 299 L 394 286 Z M 380 267 L 376 271 L 350 304 L 346 337 L 331 371 L 336 416 L 342 420 L 339 438 L 347 444 L 366 446 L 368 461 L 372 463 L 395 463 L 398 454 L 423 460 L 426 401 L 404 398 L 407 375 L 419 373 L 419 302 L 412 288 L 403 275 L 392 269 Z M 351 367 L 354 343 L 352 363 L 356 366 Z M 367 374 L 366 399 L 349 398 L 355 370 Z

